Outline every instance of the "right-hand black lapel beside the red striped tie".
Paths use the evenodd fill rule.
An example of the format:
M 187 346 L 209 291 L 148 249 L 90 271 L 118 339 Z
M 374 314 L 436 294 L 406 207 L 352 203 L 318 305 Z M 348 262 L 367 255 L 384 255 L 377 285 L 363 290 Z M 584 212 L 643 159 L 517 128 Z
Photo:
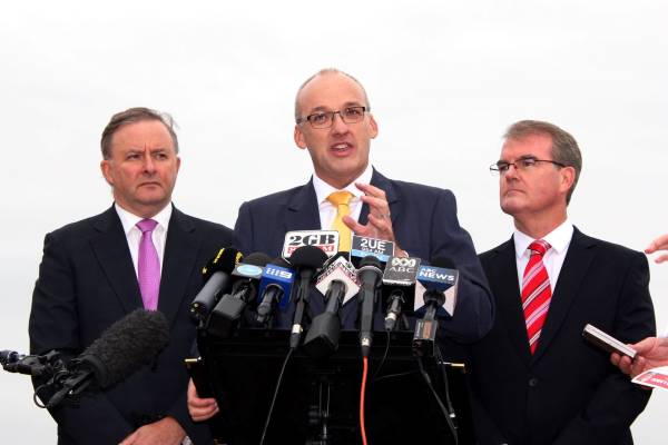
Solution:
M 548 312 L 548 318 L 540 333 L 538 340 L 538 348 L 533 354 L 533 360 L 540 358 L 540 356 L 550 347 L 550 343 L 554 336 L 559 333 L 566 316 L 577 297 L 580 284 L 584 279 L 589 265 L 596 256 L 596 241 L 588 236 L 582 235 L 577 228 L 573 229 L 573 237 L 571 239 L 568 253 L 561 266 L 557 285 L 554 286 L 554 294 L 550 301 L 550 309 Z

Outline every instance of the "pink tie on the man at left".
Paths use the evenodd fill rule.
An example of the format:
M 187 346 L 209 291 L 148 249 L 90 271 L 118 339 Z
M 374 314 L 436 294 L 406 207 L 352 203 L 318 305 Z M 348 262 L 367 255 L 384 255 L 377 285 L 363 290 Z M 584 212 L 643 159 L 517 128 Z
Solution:
M 139 241 L 138 275 L 139 290 L 144 308 L 156 310 L 158 307 L 158 291 L 160 290 L 160 260 L 158 251 L 153 244 L 153 231 L 157 226 L 153 219 L 143 219 L 137 222 L 141 230 L 141 240 Z

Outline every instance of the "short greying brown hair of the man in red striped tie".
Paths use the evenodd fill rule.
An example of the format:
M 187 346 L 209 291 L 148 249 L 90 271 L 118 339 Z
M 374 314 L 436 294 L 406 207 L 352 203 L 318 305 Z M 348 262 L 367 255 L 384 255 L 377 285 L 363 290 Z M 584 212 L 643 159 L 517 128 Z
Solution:
M 552 139 L 552 160 L 572 167 L 576 170 L 576 179 L 566 196 L 566 204 L 569 204 L 580 178 L 580 171 L 582 171 L 582 155 L 580 154 L 576 138 L 556 125 L 540 120 L 520 120 L 519 122 L 514 122 L 508 128 L 503 137 L 505 139 L 520 140 L 532 135 L 548 135 Z

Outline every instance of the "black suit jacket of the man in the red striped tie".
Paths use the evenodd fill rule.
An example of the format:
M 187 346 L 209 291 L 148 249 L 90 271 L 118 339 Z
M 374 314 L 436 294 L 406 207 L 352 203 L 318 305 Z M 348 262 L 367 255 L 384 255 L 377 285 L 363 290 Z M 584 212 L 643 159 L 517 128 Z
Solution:
M 645 255 L 574 229 L 536 354 L 521 307 L 513 240 L 480 256 L 497 300 L 490 334 L 472 347 L 480 444 L 632 444 L 650 392 L 582 338 L 592 324 L 625 343 L 655 334 Z

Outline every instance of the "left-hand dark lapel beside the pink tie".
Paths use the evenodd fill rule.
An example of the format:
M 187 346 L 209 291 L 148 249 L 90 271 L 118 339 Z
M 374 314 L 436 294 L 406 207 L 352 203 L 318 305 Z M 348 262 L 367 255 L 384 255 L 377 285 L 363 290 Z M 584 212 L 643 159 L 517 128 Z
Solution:
M 137 274 L 122 224 L 111 207 L 94 222 L 99 236 L 91 239 L 91 247 L 109 285 L 126 313 L 143 307 Z

